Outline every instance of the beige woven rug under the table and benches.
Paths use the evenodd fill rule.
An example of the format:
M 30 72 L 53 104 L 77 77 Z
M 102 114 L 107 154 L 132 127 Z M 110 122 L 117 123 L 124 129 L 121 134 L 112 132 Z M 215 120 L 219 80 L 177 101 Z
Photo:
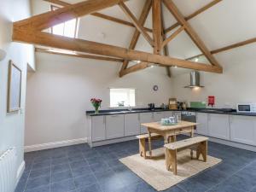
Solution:
M 207 162 L 203 162 L 202 159 L 191 160 L 190 149 L 183 150 L 177 153 L 177 175 L 173 175 L 172 172 L 166 170 L 164 148 L 153 150 L 152 155 L 154 156 L 153 159 L 144 160 L 139 154 L 134 154 L 120 159 L 120 161 L 158 191 L 169 189 L 184 179 L 222 161 L 209 155 Z

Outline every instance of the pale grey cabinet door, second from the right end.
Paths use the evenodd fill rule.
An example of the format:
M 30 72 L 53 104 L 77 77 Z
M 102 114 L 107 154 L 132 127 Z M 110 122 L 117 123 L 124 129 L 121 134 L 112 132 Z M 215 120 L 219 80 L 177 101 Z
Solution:
M 210 137 L 230 140 L 229 115 L 208 113 L 207 126 Z

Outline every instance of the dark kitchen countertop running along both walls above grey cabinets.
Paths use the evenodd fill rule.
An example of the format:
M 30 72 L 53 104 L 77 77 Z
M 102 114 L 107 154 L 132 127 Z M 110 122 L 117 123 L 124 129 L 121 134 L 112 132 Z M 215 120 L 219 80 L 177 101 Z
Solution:
M 233 115 L 244 115 L 244 116 L 255 116 L 256 113 L 237 113 L 236 109 L 232 111 L 224 111 L 223 109 L 218 108 L 188 108 L 187 110 L 181 109 L 162 109 L 155 108 L 154 110 L 149 110 L 148 108 L 134 108 L 131 111 L 128 109 L 109 109 L 109 110 L 100 110 L 99 113 L 95 111 L 86 111 L 86 115 L 90 116 L 101 116 L 101 115 L 112 115 L 112 114 L 127 114 L 127 113 L 152 113 L 152 112 L 165 112 L 165 111 L 180 111 L 180 112 L 196 112 L 196 113 L 218 113 L 218 114 L 233 114 Z

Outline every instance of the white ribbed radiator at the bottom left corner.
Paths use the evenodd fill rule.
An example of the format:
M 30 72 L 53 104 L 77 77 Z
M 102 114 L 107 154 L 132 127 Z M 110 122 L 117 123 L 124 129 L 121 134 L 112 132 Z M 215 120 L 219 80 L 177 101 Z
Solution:
M 16 183 L 15 148 L 9 148 L 0 156 L 0 192 L 14 192 Z

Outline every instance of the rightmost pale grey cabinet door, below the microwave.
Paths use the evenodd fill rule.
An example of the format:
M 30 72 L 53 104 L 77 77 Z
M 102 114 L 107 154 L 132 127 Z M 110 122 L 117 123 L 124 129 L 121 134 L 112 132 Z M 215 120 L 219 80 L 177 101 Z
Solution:
M 230 115 L 230 139 L 237 143 L 256 144 L 256 119 Z

